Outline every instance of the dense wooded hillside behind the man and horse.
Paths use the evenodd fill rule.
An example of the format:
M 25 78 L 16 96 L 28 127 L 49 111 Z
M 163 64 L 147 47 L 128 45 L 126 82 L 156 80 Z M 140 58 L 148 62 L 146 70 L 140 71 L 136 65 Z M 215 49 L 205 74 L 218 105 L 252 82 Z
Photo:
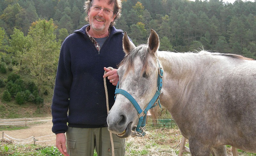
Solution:
M 1 67 L 52 88 L 61 43 L 87 24 L 85 16 L 84 0 L 0 0 Z M 256 0 L 122 0 L 115 27 L 135 45 L 147 43 L 154 29 L 159 50 L 205 49 L 256 59 Z

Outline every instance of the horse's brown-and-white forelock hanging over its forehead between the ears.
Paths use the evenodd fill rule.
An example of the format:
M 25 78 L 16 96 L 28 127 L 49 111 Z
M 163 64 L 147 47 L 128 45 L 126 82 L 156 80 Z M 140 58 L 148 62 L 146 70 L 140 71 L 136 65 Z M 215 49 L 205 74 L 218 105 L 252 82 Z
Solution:
M 151 70 L 149 63 L 148 63 L 149 55 L 150 54 L 148 53 L 148 45 L 141 44 L 141 45 L 137 46 L 136 48 L 134 48 L 128 55 L 125 55 L 124 59 L 121 61 L 121 63 L 118 65 L 118 67 L 122 66 L 124 63 L 126 63 L 128 65 L 126 73 L 124 74 L 124 76 L 126 76 L 130 70 L 134 70 L 133 62 L 134 62 L 135 58 L 139 56 L 143 63 L 141 75 L 144 72 L 146 74 L 148 74 Z

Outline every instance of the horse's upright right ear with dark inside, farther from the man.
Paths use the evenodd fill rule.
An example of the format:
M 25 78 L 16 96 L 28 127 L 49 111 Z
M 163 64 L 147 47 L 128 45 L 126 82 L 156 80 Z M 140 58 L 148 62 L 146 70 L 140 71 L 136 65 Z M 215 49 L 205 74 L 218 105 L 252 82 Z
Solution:
M 151 29 L 149 38 L 148 38 L 148 50 L 150 53 L 156 53 L 159 46 L 159 37 L 157 33 Z

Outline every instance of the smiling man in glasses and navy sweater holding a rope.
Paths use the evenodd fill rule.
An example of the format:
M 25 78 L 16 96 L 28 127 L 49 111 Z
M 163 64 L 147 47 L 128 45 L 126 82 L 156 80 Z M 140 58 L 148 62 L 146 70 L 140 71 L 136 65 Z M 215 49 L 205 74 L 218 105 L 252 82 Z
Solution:
M 111 108 L 119 78 L 116 69 L 106 67 L 117 68 L 124 58 L 124 33 L 114 27 L 121 15 L 121 1 L 88 0 L 84 7 L 90 24 L 69 35 L 61 46 L 52 99 L 52 131 L 56 146 L 65 156 L 93 156 L 95 148 L 98 156 L 107 156 L 112 153 L 103 77 L 109 80 Z M 113 140 L 115 155 L 125 155 L 125 140 L 116 135 Z

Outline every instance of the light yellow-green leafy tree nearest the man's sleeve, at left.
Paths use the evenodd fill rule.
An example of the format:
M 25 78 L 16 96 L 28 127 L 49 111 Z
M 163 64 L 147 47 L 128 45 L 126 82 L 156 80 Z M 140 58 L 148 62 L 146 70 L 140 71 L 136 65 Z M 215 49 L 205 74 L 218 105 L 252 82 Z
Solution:
M 39 20 L 32 24 L 28 32 L 31 43 L 24 55 L 24 64 L 28 66 L 31 75 L 36 77 L 39 89 L 45 85 L 53 86 L 54 74 L 57 68 L 60 42 L 53 33 L 56 26 L 53 20 Z

